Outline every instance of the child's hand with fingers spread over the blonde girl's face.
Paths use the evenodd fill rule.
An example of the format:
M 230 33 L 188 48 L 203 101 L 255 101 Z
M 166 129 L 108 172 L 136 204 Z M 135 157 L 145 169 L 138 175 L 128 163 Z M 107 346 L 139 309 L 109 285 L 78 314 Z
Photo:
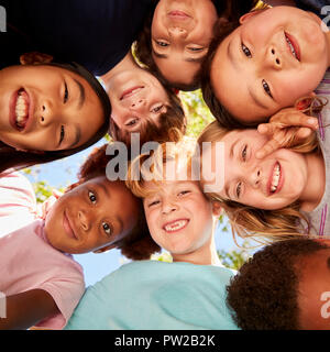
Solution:
M 268 123 L 261 123 L 257 131 L 270 141 L 256 152 L 263 158 L 280 147 L 293 146 L 305 140 L 318 129 L 318 119 L 306 116 L 295 108 L 283 109 L 274 114 Z

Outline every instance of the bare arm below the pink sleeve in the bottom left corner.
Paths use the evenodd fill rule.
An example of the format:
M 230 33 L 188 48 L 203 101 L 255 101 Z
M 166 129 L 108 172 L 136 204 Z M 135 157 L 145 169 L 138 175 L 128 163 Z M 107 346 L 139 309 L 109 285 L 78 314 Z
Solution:
M 6 318 L 0 317 L 0 330 L 25 330 L 54 316 L 58 308 L 44 289 L 31 289 L 6 299 Z

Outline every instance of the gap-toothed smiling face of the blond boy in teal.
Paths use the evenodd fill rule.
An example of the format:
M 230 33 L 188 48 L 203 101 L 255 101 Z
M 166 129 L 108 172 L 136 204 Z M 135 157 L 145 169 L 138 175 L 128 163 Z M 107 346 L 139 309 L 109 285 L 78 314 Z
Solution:
M 197 182 L 145 183 L 144 211 L 153 240 L 172 254 L 201 251 L 212 238 L 212 206 Z M 198 217 L 196 216 L 198 215 Z

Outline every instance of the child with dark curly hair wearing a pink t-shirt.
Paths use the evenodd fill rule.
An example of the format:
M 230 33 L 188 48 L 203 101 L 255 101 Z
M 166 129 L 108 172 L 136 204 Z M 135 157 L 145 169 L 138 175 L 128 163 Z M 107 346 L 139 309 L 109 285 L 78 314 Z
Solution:
M 81 166 L 78 182 L 55 201 L 45 219 L 32 219 L 11 233 L 1 227 L 0 290 L 7 296 L 7 318 L 0 319 L 0 329 L 66 324 L 85 290 L 82 268 L 70 254 L 117 248 L 130 258 L 143 260 L 158 250 L 151 241 L 141 200 L 124 182 L 107 179 L 108 162 L 106 145 L 96 148 Z M 29 198 L 33 190 L 20 193 L 20 186 L 31 185 L 20 182 L 22 175 L 15 178 L 12 198 L 20 216 L 25 207 L 31 219 L 36 206 L 35 197 Z

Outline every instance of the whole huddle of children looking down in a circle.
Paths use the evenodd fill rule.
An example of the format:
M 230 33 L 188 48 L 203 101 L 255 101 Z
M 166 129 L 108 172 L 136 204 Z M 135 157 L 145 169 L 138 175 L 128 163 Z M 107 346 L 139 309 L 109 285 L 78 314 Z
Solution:
M 73 47 L 79 64 L 63 63 L 56 26 L 47 29 L 33 12 L 34 29 L 46 26 L 33 33 L 29 15 L 20 22 L 20 12 L 10 11 L 19 3 L 8 4 L 8 35 L 30 53 L 20 55 L 21 65 L 0 70 L 0 292 L 7 296 L 0 328 L 323 329 L 317 314 L 329 251 L 319 239 L 330 230 L 330 32 L 321 19 L 257 1 L 146 1 L 140 35 L 142 23 L 133 21 L 131 32 L 120 28 L 127 23 L 113 24 L 125 41 L 138 40 L 135 54 L 108 52 L 105 32 L 94 66 L 90 57 L 79 57 L 79 48 L 92 42 L 87 33 L 86 43 Z M 68 9 L 77 6 L 69 1 Z M 85 6 L 79 2 L 87 16 Z M 55 2 L 51 7 L 64 15 Z M 105 13 L 120 8 L 117 13 L 128 18 L 133 2 L 108 0 L 106 7 Z M 53 47 L 41 41 L 52 31 Z M 187 148 L 185 138 L 177 139 L 186 117 L 173 88 L 199 87 L 216 121 Z M 148 178 L 142 166 L 151 155 L 142 154 L 131 161 L 125 182 L 109 180 L 113 156 L 105 145 L 88 156 L 78 182 L 37 216 L 33 190 L 15 169 L 69 156 L 107 132 L 127 146 L 133 132 L 140 132 L 141 145 L 158 142 L 148 172 L 161 170 L 160 177 Z M 211 147 L 205 150 L 205 142 Z M 224 145 L 219 160 L 218 142 Z M 213 174 L 194 177 L 205 166 L 195 165 L 196 150 L 211 169 L 222 165 L 223 187 L 206 193 Z M 172 168 L 170 179 L 164 167 Z M 275 242 L 234 277 L 215 246 L 223 210 L 233 234 Z M 164 249 L 173 263 L 133 262 L 85 292 L 82 270 L 70 254 L 113 248 L 133 261 Z M 314 276 L 310 267 L 320 273 Z M 184 289 L 189 280 L 191 292 Z M 191 311 L 194 290 L 204 298 Z M 164 324 L 155 327 L 152 316 Z

